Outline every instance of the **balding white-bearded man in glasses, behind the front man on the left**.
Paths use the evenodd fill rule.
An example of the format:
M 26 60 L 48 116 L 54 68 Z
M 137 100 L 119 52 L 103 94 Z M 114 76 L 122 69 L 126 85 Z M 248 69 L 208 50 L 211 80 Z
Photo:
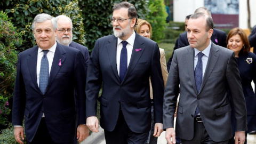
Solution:
M 84 60 L 85 60 L 85 67 L 87 69 L 88 67 L 88 62 L 89 62 L 89 51 L 86 46 L 83 46 L 81 44 L 78 44 L 76 42 L 72 41 L 73 38 L 73 24 L 72 21 L 69 17 L 66 15 L 59 15 L 56 17 L 57 22 L 58 22 L 58 31 L 57 31 L 57 36 L 56 40 L 58 43 L 62 45 L 67 45 L 70 47 L 74 47 L 77 50 L 80 50 L 83 54 Z

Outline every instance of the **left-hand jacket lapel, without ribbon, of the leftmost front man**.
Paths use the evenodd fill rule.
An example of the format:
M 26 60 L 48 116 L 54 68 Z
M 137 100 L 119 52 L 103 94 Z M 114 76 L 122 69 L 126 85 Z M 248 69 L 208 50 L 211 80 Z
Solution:
M 32 79 L 33 83 L 37 87 L 37 90 L 41 92 L 41 90 L 38 87 L 37 78 L 36 78 L 36 65 L 37 65 L 38 46 L 35 46 L 35 47 L 31 48 L 31 49 L 33 49 L 33 51 L 31 51 L 31 53 L 28 54 L 29 57 L 27 59 L 29 73 L 30 73 L 30 76 L 31 76 L 31 79 Z

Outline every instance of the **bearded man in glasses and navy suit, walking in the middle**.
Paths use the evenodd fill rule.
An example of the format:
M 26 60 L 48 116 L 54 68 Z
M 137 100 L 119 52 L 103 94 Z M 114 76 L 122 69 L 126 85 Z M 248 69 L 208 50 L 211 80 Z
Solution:
M 156 42 L 135 33 L 135 7 L 113 7 L 114 35 L 99 38 L 89 61 L 86 82 L 86 124 L 98 132 L 97 99 L 101 84 L 100 125 L 106 143 L 146 143 L 151 125 L 149 77 L 153 86 L 155 137 L 162 129 L 164 83 Z

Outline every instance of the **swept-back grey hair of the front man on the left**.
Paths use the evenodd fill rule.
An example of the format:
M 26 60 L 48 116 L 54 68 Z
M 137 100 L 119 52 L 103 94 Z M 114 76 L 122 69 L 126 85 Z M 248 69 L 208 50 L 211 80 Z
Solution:
M 32 30 L 34 31 L 36 23 L 45 22 L 46 20 L 51 20 L 53 29 L 54 30 L 57 29 L 57 20 L 49 14 L 41 13 L 41 14 L 37 14 L 36 17 L 34 18 L 31 26 Z

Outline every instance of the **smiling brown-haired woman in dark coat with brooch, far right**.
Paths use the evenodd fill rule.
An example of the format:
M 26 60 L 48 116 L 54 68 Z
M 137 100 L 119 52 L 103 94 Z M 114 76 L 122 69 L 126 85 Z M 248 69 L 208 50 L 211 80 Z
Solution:
M 247 109 L 247 133 L 256 130 L 256 97 L 252 81 L 256 82 L 256 55 L 250 52 L 249 40 L 241 28 L 231 29 L 227 36 L 227 48 L 234 51 Z M 235 114 L 235 111 L 233 111 Z M 235 119 L 233 119 L 235 121 Z M 246 140 L 245 140 L 245 143 Z

